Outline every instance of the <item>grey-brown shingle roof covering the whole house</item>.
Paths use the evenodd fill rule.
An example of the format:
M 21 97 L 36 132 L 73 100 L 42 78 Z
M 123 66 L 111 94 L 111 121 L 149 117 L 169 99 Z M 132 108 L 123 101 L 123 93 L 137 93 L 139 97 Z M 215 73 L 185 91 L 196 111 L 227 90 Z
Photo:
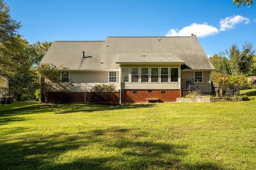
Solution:
M 86 58 L 83 57 L 83 51 Z M 54 41 L 41 63 L 63 65 L 71 70 L 118 69 L 119 63 L 185 63 L 191 69 L 215 69 L 195 36 Z

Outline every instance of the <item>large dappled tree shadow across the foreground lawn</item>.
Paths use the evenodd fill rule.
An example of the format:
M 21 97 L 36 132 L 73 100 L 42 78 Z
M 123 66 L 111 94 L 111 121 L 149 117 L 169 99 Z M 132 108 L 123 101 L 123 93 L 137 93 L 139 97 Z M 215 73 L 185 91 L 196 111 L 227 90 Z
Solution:
M 148 138 L 149 135 L 148 132 L 138 129 L 111 127 L 83 130 L 75 135 L 72 133 L 24 135 L 14 139 L 12 143 L 4 139 L 0 144 L 0 168 L 222 169 L 213 166 L 211 162 L 194 166 L 184 164 L 181 158 L 187 155 L 187 145 L 174 144 L 171 141 L 152 141 Z M 79 155 L 72 157 L 69 155 L 70 152 Z M 112 152 L 112 155 L 108 154 L 109 152 Z

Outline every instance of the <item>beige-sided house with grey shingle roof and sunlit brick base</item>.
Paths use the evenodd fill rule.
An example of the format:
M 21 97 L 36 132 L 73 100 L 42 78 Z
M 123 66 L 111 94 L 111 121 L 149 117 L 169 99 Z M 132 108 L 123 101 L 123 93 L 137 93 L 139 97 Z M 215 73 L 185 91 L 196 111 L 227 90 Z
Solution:
M 185 80 L 209 85 L 215 70 L 195 35 L 106 37 L 105 41 L 54 41 L 41 63 L 63 65 L 74 102 L 89 102 L 96 84 L 114 83 L 121 103 L 175 102 Z

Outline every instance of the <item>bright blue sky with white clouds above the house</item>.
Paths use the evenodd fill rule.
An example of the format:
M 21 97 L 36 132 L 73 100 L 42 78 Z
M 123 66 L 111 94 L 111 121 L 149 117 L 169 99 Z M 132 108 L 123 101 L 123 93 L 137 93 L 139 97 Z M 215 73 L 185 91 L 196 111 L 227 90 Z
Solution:
M 5 0 L 20 34 L 36 41 L 197 35 L 207 55 L 236 43 L 256 49 L 256 4 L 232 0 Z

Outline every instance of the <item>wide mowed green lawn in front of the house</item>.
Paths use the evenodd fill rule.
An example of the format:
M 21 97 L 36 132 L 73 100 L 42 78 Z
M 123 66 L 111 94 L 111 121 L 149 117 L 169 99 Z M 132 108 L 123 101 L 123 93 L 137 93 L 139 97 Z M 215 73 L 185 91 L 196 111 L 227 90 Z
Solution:
M 255 169 L 254 97 L 244 102 L 3 110 L 0 169 Z

